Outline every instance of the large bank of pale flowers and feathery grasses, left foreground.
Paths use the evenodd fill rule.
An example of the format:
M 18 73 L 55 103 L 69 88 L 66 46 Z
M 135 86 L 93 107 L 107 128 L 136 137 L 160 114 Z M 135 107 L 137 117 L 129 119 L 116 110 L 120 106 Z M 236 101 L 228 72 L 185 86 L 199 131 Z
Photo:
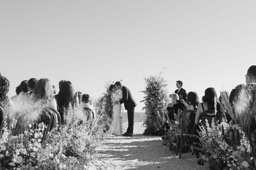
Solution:
M 17 101 L 22 97 L 18 96 Z M 42 140 L 45 125 L 34 125 L 32 118 L 36 119 L 40 115 L 41 107 L 45 106 L 37 102 L 31 107 L 29 102 L 24 100 L 20 105 L 5 107 L 5 124 L 0 138 L 0 167 L 87 169 L 89 164 L 98 159 L 97 148 L 104 143 L 104 124 L 99 124 L 97 129 L 95 126 L 102 116 L 96 115 L 91 125 L 83 119 L 81 110 L 70 106 L 65 113 L 66 124 L 53 128 L 48 137 Z M 17 121 L 14 120 L 24 125 L 17 126 Z

